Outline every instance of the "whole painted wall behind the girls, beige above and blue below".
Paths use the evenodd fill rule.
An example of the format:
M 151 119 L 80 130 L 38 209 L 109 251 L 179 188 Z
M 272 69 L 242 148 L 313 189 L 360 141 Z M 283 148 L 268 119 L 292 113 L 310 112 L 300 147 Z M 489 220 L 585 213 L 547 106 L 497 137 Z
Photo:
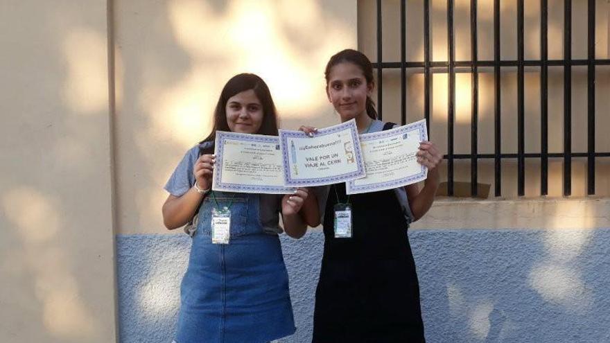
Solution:
M 435 42 L 442 39 L 441 2 L 433 1 Z M 463 2 L 456 1 L 458 12 Z M 326 60 L 356 46 L 374 60 L 366 38 L 374 32 L 367 28 L 373 2 L 356 3 L 3 1 L 0 342 L 114 342 L 116 335 L 120 342 L 171 342 L 189 238 L 163 228 L 162 185 L 208 133 L 220 89 L 235 73 L 268 81 L 282 127 L 337 123 L 324 94 Z M 394 16 L 391 6 L 399 2 L 384 3 L 384 16 Z M 607 1 L 597 3 L 598 23 L 607 25 Z M 412 32 L 421 15 L 408 15 Z M 599 32 L 603 55 L 610 26 Z M 607 126 L 609 70 L 598 68 L 598 127 Z M 409 79 L 414 119 L 418 78 Z M 503 87 L 513 87 L 506 79 Z M 398 83 L 387 80 L 384 108 L 392 112 Z M 441 115 L 442 103 L 435 108 Z M 443 141 L 442 127 L 434 130 Z M 598 140 L 603 146 L 608 136 Z M 582 177 L 574 168 L 577 185 Z M 610 187 L 604 168 L 602 159 L 602 192 Z M 528 190 L 537 188 L 528 182 Z M 428 340 L 610 340 L 609 210 L 609 200 L 591 198 L 437 202 L 411 233 Z M 302 240 L 282 238 L 298 326 L 284 342 L 311 336 L 322 240 L 319 229 Z

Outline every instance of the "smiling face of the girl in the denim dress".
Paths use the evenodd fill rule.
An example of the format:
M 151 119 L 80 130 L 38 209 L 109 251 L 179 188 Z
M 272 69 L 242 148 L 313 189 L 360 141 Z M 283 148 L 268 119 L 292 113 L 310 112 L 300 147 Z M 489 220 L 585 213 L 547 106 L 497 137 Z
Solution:
M 259 132 L 263 123 L 263 105 L 254 89 L 242 91 L 229 98 L 225 112 L 229 130 L 232 132 L 254 134 Z

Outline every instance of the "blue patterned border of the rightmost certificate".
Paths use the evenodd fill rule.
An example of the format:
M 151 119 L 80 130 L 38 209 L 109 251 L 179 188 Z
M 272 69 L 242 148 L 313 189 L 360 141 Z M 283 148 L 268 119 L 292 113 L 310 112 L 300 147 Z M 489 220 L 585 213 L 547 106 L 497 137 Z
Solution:
M 422 141 L 428 140 L 428 131 L 426 130 L 426 120 L 423 119 L 421 121 L 416 121 L 415 123 L 411 123 L 409 125 L 396 127 L 395 129 L 392 129 L 392 130 L 385 130 L 385 131 L 365 134 L 363 136 L 360 136 L 360 141 L 363 141 L 363 142 L 372 141 L 374 139 L 391 137 L 391 136 L 394 136 L 397 134 L 403 134 L 406 132 L 412 132 L 412 131 L 416 131 L 416 130 L 419 132 L 419 137 L 421 137 Z M 348 194 L 357 194 L 357 193 L 367 193 L 367 192 L 383 191 L 386 189 L 397 188 L 399 186 L 404 186 L 406 184 L 412 184 L 413 182 L 420 181 L 421 179 L 426 177 L 426 173 L 428 173 L 427 168 L 424 167 L 423 165 L 420 165 L 419 173 L 417 173 L 415 175 L 410 175 L 409 177 L 395 179 L 392 181 L 381 182 L 381 183 L 377 183 L 377 184 L 367 184 L 367 185 L 362 185 L 362 186 L 356 186 L 354 180 L 350 180 L 347 182 L 348 185 L 346 187 L 347 188 L 346 191 L 349 190 Z

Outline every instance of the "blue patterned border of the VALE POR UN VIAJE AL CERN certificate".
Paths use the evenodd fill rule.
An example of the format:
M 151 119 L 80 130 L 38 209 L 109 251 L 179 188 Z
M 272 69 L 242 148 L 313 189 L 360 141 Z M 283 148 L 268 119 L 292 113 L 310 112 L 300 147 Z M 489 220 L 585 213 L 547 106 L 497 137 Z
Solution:
M 290 159 L 288 158 L 288 138 L 308 138 L 307 134 L 302 131 L 293 130 L 279 130 L 279 141 L 281 145 L 282 159 L 284 161 L 284 184 L 286 186 L 293 187 L 307 187 L 307 186 L 322 186 L 326 184 L 336 184 L 338 182 L 346 182 L 351 179 L 358 179 L 366 175 L 365 165 L 362 157 L 362 150 L 360 148 L 360 137 L 358 136 L 358 128 L 356 127 L 356 121 L 351 119 L 345 123 L 326 127 L 324 129 L 317 130 L 317 134 L 333 134 L 343 130 L 349 129 L 351 138 L 354 140 L 354 157 L 356 161 L 360 161 L 358 169 L 351 173 L 345 173 L 341 175 L 335 175 L 331 177 L 317 177 L 312 179 L 297 179 L 290 177 Z

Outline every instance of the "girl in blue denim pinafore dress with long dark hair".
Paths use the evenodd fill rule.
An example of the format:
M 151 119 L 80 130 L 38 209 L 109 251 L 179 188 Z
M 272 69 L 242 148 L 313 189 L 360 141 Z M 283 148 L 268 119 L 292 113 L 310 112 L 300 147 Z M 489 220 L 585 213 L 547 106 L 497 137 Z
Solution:
M 279 213 L 286 234 L 300 238 L 307 225 L 319 225 L 317 202 L 307 188 L 291 195 L 210 191 L 217 130 L 277 136 L 275 105 L 259 76 L 243 73 L 227 82 L 214 129 L 186 152 L 165 186 L 168 229 L 196 212 L 199 218 L 180 286 L 175 342 L 268 342 L 295 332 Z M 229 244 L 211 239 L 212 213 L 221 208 L 230 213 Z

